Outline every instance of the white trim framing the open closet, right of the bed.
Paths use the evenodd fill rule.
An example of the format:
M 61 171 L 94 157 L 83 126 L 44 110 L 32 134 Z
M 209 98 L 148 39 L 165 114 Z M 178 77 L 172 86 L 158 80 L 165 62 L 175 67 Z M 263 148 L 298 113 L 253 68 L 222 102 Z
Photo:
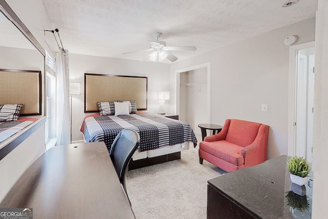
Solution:
M 176 98 L 175 98 L 175 106 L 176 106 L 176 113 L 180 114 L 180 73 L 186 71 L 192 71 L 200 68 L 207 68 L 207 120 L 208 123 L 211 123 L 211 63 L 203 63 L 200 65 L 190 66 L 187 68 L 182 68 L 175 70 L 176 75 Z M 197 103 L 195 103 L 197 104 Z

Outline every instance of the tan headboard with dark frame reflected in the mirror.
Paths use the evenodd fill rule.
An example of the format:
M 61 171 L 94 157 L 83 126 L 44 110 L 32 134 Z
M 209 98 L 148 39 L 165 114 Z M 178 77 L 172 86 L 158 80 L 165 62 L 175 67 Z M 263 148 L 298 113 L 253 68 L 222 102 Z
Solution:
M 40 115 L 41 71 L 0 69 L 0 104 L 24 104 L 20 115 Z

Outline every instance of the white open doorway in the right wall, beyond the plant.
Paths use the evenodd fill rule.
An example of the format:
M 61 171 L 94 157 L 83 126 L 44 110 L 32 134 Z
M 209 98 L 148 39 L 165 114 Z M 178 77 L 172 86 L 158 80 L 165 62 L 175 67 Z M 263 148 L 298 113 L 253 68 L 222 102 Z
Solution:
M 314 42 L 290 47 L 290 156 L 312 162 L 314 106 Z

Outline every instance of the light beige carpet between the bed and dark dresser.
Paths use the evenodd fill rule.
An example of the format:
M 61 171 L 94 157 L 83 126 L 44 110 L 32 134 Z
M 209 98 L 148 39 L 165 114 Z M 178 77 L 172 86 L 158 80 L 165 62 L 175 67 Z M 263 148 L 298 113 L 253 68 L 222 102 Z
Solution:
M 224 174 L 207 161 L 199 164 L 198 146 L 181 160 L 131 170 L 127 192 L 136 218 L 206 218 L 207 181 Z

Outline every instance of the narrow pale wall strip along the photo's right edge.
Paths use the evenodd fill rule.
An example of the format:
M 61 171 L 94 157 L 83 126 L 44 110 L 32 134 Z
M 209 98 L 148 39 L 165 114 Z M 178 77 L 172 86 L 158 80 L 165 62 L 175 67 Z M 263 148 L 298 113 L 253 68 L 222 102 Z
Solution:
M 328 1 L 318 1 L 314 76 L 312 218 L 328 218 Z

